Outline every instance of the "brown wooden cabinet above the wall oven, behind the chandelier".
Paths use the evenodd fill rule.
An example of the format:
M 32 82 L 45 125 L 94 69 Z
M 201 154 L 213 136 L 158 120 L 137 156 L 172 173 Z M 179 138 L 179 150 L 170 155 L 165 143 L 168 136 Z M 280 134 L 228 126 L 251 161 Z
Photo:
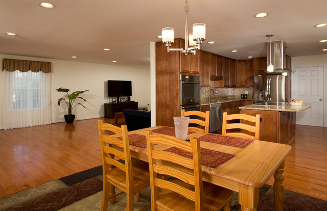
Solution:
M 184 48 L 185 41 L 174 39 L 170 48 Z M 156 43 L 156 73 L 184 72 L 199 74 L 199 52 L 196 55 L 182 55 L 180 51 L 167 51 L 162 42 Z

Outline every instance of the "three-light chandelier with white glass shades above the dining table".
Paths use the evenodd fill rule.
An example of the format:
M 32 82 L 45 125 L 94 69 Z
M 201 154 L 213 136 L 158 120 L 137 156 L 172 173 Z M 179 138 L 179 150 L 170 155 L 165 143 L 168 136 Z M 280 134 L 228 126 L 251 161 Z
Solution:
M 189 34 L 188 30 L 188 1 L 185 1 L 185 49 L 169 48 L 174 43 L 174 29 L 166 27 L 162 29 L 162 42 L 166 44 L 168 52 L 170 50 L 179 50 L 184 55 L 194 54 L 195 50 L 200 49 L 200 44 L 205 40 L 205 24 L 194 23 L 193 33 Z M 189 43 L 190 42 L 190 43 Z

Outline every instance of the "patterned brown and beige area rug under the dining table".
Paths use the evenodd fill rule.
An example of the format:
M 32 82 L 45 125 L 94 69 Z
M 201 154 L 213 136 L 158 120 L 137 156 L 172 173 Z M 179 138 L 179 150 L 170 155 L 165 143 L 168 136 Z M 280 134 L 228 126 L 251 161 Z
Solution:
M 101 210 L 102 167 L 96 167 L 40 186 L 0 198 L 0 210 Z M 99 173 L 100 172 L 100 173 Z M 120 190 L 116 190 L 116 193 Z M 150 188 L 141 192 L 141 201 L 134 198 L 134 210 L 139 210 L 151 202 Z M 284 210 L 325 210 L 327 201 L 302 195 L 292 191 L 284 192 Z M 108 210 L 126 210 L 126 194 L 119 195 Z M 147 210 L 151 210 L 150 208 Z M 238 194 L 234 193 L 231 210 L 241 210 Z M 272 187 L 265 185 L 260 189 L 259 211 L 273 210 Z

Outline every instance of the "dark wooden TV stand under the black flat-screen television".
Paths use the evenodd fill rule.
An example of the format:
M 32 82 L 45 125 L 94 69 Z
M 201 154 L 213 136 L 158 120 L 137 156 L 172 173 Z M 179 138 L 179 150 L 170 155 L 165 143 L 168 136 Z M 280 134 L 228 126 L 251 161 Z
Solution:
M 128 102 L 110 102 L 104 103 L 104 117 L 106 118 L 114 118 L 114 113 L 122 112 L 125 109 L 138 109 L 138 102 L 128 101 Z

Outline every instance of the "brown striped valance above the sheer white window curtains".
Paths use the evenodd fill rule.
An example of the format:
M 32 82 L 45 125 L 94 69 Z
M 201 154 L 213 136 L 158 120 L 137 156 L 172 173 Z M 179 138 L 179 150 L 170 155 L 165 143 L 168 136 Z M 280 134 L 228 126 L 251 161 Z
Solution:
M 18 60 L 18 59 L 3 59 L 2 69 L 9 72 L 19 70 L 20 72 L 32 72 L 42 71 L 44 73 L 51 72 L 51 62 L 39 62 L 29 60 Z

